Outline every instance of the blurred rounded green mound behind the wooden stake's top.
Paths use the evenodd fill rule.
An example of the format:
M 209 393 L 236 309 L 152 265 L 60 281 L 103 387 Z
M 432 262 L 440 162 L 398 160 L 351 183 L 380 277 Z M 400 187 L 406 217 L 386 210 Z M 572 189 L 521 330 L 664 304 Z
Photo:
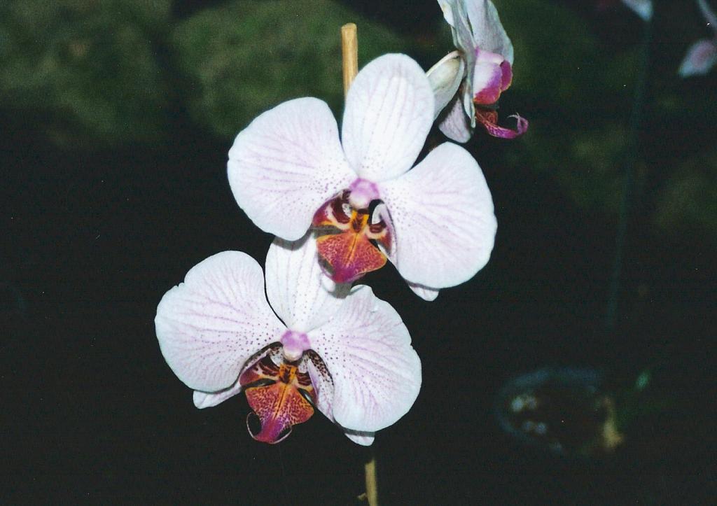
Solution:
M 341 25 L 359 26 L 359 62 L 408 44 L 329 0 L 229 1 L 179 24 L 172 44 L 194 84 L 191 114 L 233 137 L 262 111 L 313 96 L 341 110 Z

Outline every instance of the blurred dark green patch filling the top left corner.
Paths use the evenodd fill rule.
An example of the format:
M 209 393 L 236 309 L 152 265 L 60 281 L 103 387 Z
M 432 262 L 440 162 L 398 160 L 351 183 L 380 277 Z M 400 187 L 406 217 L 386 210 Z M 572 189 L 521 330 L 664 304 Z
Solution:
M 0 4 L 0 106 L 46 113 L 62 145 L 155 140 L 167 125 L 156 42 L 168 0 Z

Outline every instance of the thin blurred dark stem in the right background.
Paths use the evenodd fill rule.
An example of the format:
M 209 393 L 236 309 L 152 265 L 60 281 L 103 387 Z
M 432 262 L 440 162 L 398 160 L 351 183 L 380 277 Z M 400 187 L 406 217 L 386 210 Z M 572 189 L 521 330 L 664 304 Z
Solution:
M 617 321 L 617 302 L 620 292 L 620 276 L 622 275 L 622 257 L 625 251 L 625 239 L 627 236 L 627 223 L 630 218 L 630 207 L 632 194 L 635 190 L 635 163 L 637 162 L 637 149 L 640 132 L 640 121 L 645 106 L 645 90 L 647 88 L 647 69 L 650 64 L 650 41 L 652 39 L 652 22 L 645 22 L 645 32 L 642 37 L 640 52 L 640 71 L 635 83 L 635 95 L 632 100 L 630 112 L 630 130 L 627 136 L 625 148 L 625 186 L 620 203 L 619 218 L 617 222 L 617 234 L 615 237 L 615 256 L 610 276 L 610 286 L 607 296 L 607 311 L 605 312 L 605 330 L 612 332 Z

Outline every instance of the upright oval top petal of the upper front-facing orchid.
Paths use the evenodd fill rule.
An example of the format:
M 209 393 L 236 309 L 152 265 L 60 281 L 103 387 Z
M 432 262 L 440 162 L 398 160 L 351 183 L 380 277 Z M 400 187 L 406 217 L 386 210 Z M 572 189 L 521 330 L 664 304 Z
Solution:
M 386 54 L 366 65 L 346 96 L 341 140 L 348 163 L 369 181 L 413 165 L 433 123 L 433 91 L 419 65 Z

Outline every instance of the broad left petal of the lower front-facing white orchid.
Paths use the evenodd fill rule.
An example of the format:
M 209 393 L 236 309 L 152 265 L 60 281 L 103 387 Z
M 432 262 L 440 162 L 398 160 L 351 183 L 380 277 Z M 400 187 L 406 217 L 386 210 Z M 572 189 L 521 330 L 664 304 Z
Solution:
M 247 359 L 279 340 L 285 328 L 266 301 L 263 278 L 249 255 L 222 252 L 162 297 L 154 319 L 159 346 L 189 388 L 231 386 Z

